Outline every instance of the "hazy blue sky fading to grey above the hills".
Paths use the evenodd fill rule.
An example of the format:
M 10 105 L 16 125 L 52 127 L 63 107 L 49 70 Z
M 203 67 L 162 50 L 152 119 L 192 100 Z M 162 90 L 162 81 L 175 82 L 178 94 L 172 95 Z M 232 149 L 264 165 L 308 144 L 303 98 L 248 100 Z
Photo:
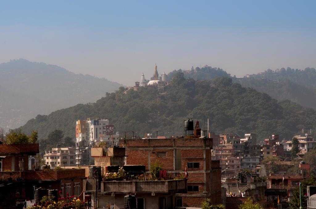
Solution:
M 0 1 L 0 62 L 125 85 L 191 66 L 243 76 L 316 67 L 316 1 Z

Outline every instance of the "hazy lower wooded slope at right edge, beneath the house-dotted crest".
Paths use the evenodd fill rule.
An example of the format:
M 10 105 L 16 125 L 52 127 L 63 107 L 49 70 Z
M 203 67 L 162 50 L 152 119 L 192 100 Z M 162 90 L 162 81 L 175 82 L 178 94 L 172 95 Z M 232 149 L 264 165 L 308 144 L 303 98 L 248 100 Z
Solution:
M 308 88 L 288 79 L 240 78 L 235 79 L 234 82 L 240 83 L 243 87 L 251 87 L 259 92 L 267 93 L 278 101 L 289 99 L 302 106 L 312 107 L 316 110 L 316 88 Z

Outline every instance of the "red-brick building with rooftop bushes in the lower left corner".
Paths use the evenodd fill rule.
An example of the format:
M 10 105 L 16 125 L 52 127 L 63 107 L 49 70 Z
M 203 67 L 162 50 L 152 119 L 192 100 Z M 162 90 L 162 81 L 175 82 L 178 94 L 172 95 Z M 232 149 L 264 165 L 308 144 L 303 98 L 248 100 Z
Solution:
M 34 186 L 45 189 L 58 189 L 62 195 L 66 193 L 83 197 L 82 180 L 86 178 L 84 169 L 60 170 L 28 170 L 29 156 L 39 153 L 39 144 L 0 144 L 0 184 L 6 189 L 7 196 L 0 199 L 10 206 L 16 201 L 34 199 Z M 9 186 L 12 185 L 12 186 Z M 13 186 L 14 185 L 14 186 Z M 10 194 L 15 194 L 14 197 Z M 4 194 L 3 194 L 4 195 Z

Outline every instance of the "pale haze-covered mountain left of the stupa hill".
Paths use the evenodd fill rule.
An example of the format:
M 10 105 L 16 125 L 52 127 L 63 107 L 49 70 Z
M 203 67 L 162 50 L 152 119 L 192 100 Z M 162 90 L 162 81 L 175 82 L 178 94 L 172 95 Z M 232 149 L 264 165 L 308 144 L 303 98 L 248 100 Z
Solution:
M 0 64 L 0 126 L 16 128 L 38 114 L 92 103 L 122 84 L 25 59 Z

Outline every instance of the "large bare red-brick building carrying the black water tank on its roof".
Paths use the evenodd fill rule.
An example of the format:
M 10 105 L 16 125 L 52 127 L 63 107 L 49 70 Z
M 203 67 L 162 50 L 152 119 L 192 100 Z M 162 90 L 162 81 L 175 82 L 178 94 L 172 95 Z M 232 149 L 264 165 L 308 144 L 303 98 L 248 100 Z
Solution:
M 211 160 L 212 139 L 190 136 L 166 139 L 121 139 L 127 165 L 159 161 L 168 175 L 188 172 L 187 193 L 176 194 L 176 206 L 200 207 L 205 198 L 221 201 L 221 168 Z

